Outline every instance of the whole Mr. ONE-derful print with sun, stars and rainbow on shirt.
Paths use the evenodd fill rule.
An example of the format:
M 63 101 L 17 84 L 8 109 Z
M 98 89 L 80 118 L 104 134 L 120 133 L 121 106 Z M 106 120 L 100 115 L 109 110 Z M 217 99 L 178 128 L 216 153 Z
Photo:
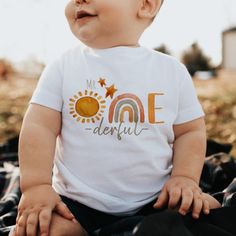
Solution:
M 107 85 L 106 79 L 99 78 L 99 86 L 104 89 L 103 94 L 90 91 L 95 90 L 94 81 L 87 81 L 87 89 L 79 91 L 69 99 L 70 115 L 77 121 L 86 124 L 85 130 L 94 135 L 115 135 L 121 140 L 124 135 L 139 136 L 147 131 L 145 127 L 145 111 L 142 101 L 138 96 L 132 93 L 124 93 L 115 96 L 118 89 L 114 84 Z M 93 86 L 92 86 L 93 85 Z M 163 96 L 164 93 L 149 93 L 148 99 L 148 123 L 163 124 L 164 121 L 156 120 L 156 110 L 163 109 L 156 107 L 155 98 Z M 110 105 L 106 105 L 106 100 L 111 99 Z M 107 110 L 107 113 L 105 113 Z M 107 114 L 107 115 L 106 115 Z M 107 117 L 105 117 L 107 116 Z M 125 122 L 125 117 L 128 122 Z M 105 124 L 104 118 L 107 118 L 109 126 Z M 89 127 L 89 124 L 98 124 Z

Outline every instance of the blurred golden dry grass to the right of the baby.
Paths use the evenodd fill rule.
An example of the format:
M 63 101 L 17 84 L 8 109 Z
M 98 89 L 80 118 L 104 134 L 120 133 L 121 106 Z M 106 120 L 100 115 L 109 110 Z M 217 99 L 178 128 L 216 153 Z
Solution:
M 194 79 L 199 99 L 206 113 L 209 138 L 233 144 L 236 157 L 236 72 L 220 71 L 211 80 Z

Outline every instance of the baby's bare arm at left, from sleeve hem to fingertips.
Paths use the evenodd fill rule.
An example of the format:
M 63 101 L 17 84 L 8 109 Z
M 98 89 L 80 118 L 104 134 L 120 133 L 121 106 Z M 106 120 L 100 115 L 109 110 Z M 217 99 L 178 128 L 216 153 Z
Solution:
M 20 187 L 16 235 L 48 235 L 52 211 L 73 220 L 69 209 L 53 190 L 52 168 L 61 113 L 31 104 L 24 117 L 19 140 Z

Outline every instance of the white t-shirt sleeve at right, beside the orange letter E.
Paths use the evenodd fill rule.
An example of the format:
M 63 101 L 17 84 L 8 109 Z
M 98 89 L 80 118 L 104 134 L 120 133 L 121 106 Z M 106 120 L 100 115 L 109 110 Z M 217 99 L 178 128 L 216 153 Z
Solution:
M 174 121 L 175 125 L 189 122 L 204 116 L 204 112 L 198 100 L 192 77 L 184 65 L 181 65 L 180 70 L 178 113 Z

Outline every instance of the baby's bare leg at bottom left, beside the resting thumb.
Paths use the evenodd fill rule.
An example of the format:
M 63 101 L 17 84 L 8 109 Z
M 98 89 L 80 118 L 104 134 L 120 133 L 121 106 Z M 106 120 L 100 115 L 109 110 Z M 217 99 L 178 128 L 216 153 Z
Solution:
M 88 234 L 79 223 L 53 213 L 49 236 L 88 236 Z

